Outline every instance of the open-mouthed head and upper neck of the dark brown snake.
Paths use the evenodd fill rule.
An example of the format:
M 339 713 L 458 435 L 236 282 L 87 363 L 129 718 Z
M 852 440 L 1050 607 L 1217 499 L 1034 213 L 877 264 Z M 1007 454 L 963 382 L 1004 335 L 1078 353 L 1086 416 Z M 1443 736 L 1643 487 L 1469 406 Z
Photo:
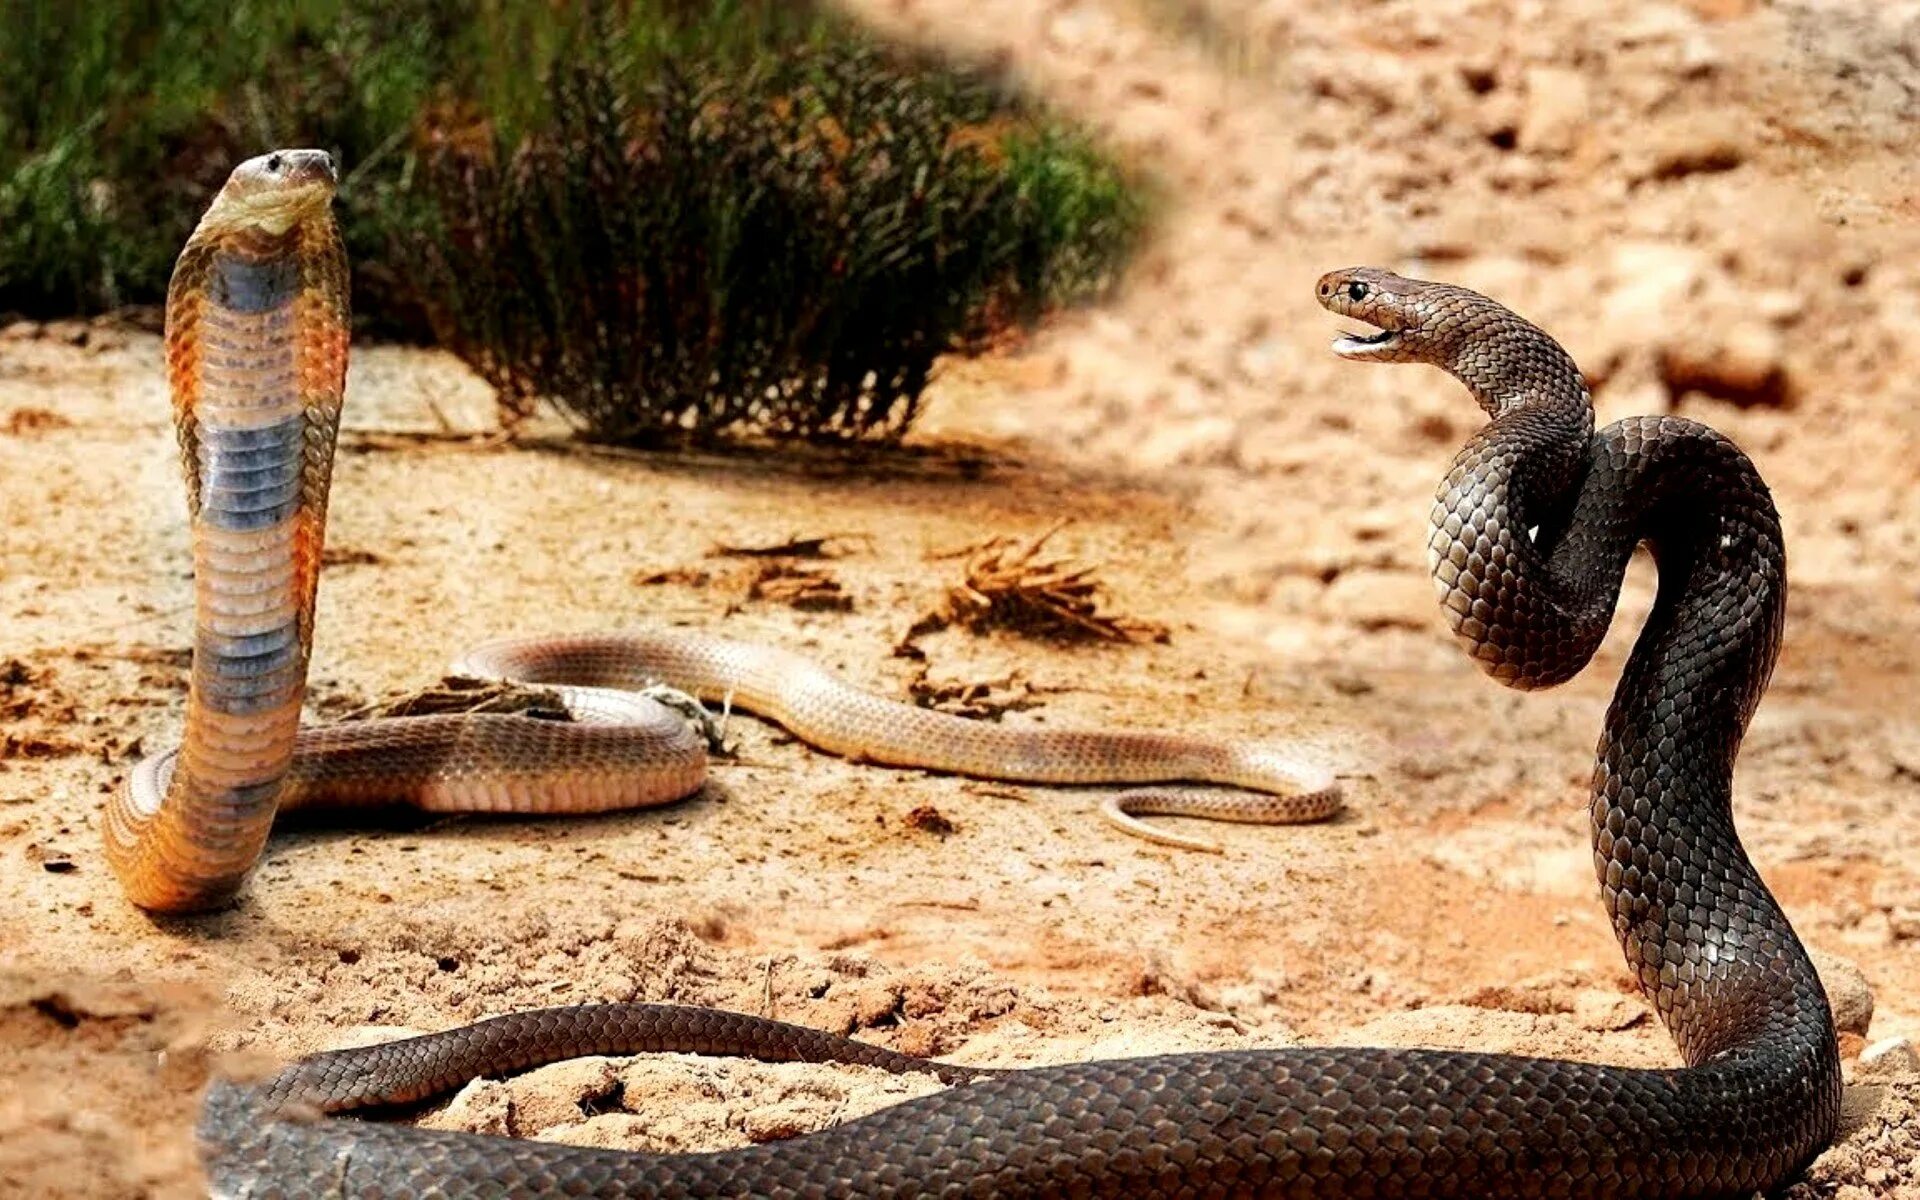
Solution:
M 1323 275 L 1315 296 L 1329 313 L 1377 330 L 1336 338 L 1336 355 L 1356 363 L 1432 363 L 1467 384 L 1490 415 L 1555 390 L 1586 396 L 1580 369 L 1553 338 L 1478 292 L 1348 267 Z

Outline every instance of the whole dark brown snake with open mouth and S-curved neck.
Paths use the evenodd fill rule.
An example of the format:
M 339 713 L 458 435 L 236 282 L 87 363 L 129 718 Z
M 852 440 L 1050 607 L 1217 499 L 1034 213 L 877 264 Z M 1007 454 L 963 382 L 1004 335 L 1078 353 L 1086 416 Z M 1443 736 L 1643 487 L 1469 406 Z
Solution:
M 1780 522 L 1753 465 L 1680 419 L 1594 432 L 1580 372 L 1473 292 L 1342 271 L 1321 303 L 1380 332 L 1350 359 L 1423 361 L 1490 413 L 1434 507 L 1442 603 L 1515 687 L 1576 674 L 1647 543 L 1661 584 L 1607 710 L 1594 862 L 1678 1069 L 1505 1054 L 1298 1048 L 975 1071 L 735 1014 L 522 1012 L 215 1085 L 219 1196 L 1749 1196 L 1834 1135 L 1820 981 L 1747 860 L 1732 768 L 1772 672 Z M 787 1142 L 630 1154 L 319 1119 L 578 1054 L 739 1052 L 927 1069 L 954 1083 Z

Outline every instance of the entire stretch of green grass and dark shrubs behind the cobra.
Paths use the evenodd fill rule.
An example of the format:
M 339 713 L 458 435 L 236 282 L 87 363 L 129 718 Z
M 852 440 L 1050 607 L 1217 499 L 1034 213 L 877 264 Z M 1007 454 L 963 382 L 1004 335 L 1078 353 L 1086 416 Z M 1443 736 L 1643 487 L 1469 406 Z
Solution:
M 321 146 L 361 332 L 588 436 L 897 436 L 937 355 L 1112 286 L 1139 180 L 795 0 L 0 0 L 0 313 L 159 303 Z

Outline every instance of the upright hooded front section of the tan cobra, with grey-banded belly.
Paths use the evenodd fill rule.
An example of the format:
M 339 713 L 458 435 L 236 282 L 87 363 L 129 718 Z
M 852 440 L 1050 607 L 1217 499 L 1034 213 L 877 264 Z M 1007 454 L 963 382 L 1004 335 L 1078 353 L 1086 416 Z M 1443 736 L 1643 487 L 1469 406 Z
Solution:
M 280 150 L 234 169 L 167 286 L 167 374 L 194 538 L 194 666 L 177 753 L 108 803 L 106 852 L 136 904 L 238 891 L 273 826 L 313 643 L 313 595 L 348 369 L 334 163 Z

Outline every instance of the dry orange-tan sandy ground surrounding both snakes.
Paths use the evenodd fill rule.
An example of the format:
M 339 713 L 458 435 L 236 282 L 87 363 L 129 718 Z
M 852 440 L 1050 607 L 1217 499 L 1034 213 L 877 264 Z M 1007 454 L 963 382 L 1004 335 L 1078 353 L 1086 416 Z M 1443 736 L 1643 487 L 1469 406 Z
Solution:
M 1098 125 L 1165 223 L 1116 303 L 954 365 L 906 451 L 605 457 L 488 430 L 463 369 L 357 353 L 311 710 L 505 632 L 682 624 L 1008 722 L 1309 737 L 1350 810 L 1127 839 L 1094 795 L 854 766 L 735 720 L 682 804 L 278 835 L 204 920 L 131 910 L 102 797 L 179 732 L 190 557 L 159 348 L 0 342 L 0 1192 L 182 1196 L 209 1071 L 568 1000 L 722 1004 L 979 1064 L 1294 1041 L 1672 1064 L 1594 895 L 1584 785 L 1649 597 L 1507 693 L 1425 580 L 1478 415 L 1325 344 L 1325 269 L 1492 292 L 1603 419 L 1678 411 L 1770 480 L 1786 653 L 1741 758 L 1753 856 L 1859 1004 L 1845 1137 L 1791 1196 L 1920 1196 L 1920 6 L 1880 0 L 866 0 Z M 987 532 L 1100 566 L 1160 645 L 895 645 Z M 851 609 L 751 595 L 716 541 L 839 536 Z M 922 680 L 924 674 L 924 680 Z M 931 806 L 941 822 L 914 810 Z M 1210 829 L 1212 833 L 1212 829 Z M 925 1091 L 824 1068 L 588 1062 L 426 1119 L 618 1146 L 787 1137 Z

